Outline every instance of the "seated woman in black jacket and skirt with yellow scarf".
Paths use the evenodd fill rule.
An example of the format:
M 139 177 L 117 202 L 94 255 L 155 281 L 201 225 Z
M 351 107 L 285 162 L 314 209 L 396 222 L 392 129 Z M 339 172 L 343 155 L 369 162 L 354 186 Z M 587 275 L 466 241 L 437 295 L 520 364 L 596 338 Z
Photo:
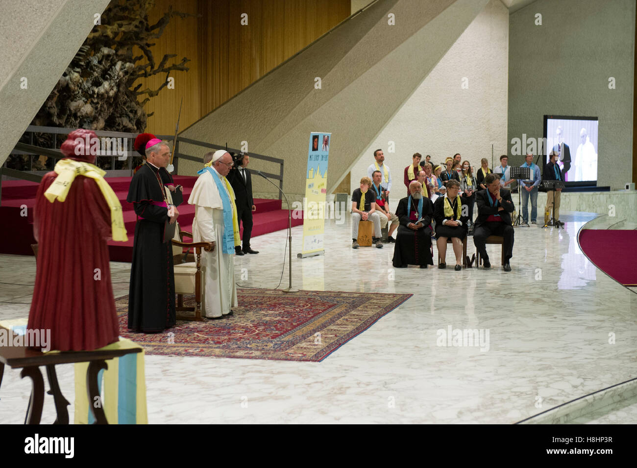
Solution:
M 447 193 L 434 203 L 434 219 L 436 220 L 436 244 L 438 245 L 438 268 L 447 268 L 447 238 L 452 238 L 455 254 L 455 270 L 462 270 L 462 240 L 467 235 L 468 207 L 462 205 L 458 196 L 460 182 L 449 180 Z M 462 210 L 464 208 L 464 212 Z

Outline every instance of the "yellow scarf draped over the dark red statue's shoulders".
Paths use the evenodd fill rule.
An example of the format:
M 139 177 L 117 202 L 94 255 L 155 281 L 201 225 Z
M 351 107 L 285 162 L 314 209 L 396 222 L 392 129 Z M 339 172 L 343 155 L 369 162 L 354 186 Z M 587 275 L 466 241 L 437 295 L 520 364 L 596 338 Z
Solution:
M 111 237 L 119 242 L 128 240 L 126 228 L 124 227 L 124 216 L 122 216 L 122 205 L 111 186 L 104 180 L 106 172 L 92 164 L 80 163 L 80 161 L 73 161 L 73 159 L 61 159 L 55 165 L 54 171 L 58 176 L 55 177 L 53 183 L 44 193 L 48 201 L 53 203 L 57 200 L 63 203 L 75 177 L 78 175 L 90 177 L 95 180 L 97 187 L 99 187 L 104 196 L 104 200 L 106 200 L 108 207 L 111 208 Z

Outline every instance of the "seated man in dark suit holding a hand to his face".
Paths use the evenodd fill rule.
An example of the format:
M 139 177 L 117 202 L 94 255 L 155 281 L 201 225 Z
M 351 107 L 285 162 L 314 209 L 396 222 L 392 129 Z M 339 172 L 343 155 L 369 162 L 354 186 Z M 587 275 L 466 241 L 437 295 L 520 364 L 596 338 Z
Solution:
M 489 255 L 485 248 L 485 242 L 490 235 L 503 236 L 505 246 L 505 272 L 511 271 L 509 259 L 513 256 L 513 226 L 511 213 L 515 209 L 511 192 L 500 187 L 500 180 L 495 174 L 487 174 L 484 178 L 486 190 L 476 193 L 478 202 L 478 217 L 475 221 L 473 243 L 483 258 L 485 268 L 490 268 Z

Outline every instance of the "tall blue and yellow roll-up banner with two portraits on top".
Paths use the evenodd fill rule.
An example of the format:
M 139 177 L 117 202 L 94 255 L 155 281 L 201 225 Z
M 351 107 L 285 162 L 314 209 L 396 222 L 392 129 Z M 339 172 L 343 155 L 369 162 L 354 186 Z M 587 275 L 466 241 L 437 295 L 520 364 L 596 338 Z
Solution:
M 327 157 L 331 133 L 310 133 L 308 170 L 303 201 L 303 249 L 299 258 L 324 252 L 325 205 L 327 197 Z

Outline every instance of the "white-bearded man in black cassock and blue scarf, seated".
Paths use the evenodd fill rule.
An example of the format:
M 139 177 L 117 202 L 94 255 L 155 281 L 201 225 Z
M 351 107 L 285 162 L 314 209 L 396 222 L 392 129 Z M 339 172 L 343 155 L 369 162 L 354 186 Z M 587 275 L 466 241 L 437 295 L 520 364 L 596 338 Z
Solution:
M 433 265 L 431 256 L 431 217 L 434 214 L 433 203 L 422 196 L 420 182 L 414 180 L 409 184 L 410 196 L 398 202 L 396 216 L 400 221 L 394 258 L 392 264 L 396 268 L 407 265 L 420 265 L 427 268 Z M 420 223 L 416 223 L 423 219 Z

